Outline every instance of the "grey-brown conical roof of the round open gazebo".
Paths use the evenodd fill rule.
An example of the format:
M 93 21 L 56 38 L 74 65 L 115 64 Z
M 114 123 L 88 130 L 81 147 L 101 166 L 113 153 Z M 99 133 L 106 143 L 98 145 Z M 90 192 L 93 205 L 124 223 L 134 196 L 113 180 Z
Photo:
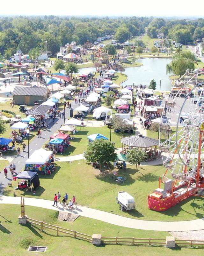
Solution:
M 125 137 L 120 140 L 122 144 L 125 144 L 129 147 L 135 148 L 149 148 L 157 146 L 159 141 L 156 139 L 152 139 L 149 137 L 145 137 L 142 134 L 138 134 L 137 136 Z

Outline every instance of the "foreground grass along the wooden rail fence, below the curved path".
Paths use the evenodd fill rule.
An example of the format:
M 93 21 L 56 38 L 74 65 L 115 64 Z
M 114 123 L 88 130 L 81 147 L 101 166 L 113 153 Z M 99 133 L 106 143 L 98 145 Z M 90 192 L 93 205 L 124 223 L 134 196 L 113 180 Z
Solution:
M 113 256 L 113 255 L 186 255 L 203 254 L 202 249 L 198 248 L 180 248 L 170 249 L 162 246 L 130 246 L 130 245 L 101 245 L 92 244 L 74 239 L 62 233 L 56 236 L 56 232 L 45 229 L 41 232 L 39 226 L 19 225 L 18 215 L 20 214 L 19 205 L 1 204 L 0 227 L 2 232 L 1 243 L 9 246 L 1 247 L 1 255 L 40 255 L 35 252 L 27 252 L 29 245 L 47 246 L 45 255 L 64 256 L 64 255 L 90 255 L 90 256 Z M 41 220 L 63 228 L 69 228 L 88 235 L 102 234 L 102 236 L 118 237 L 139 237 L 139 238 L 164 238 L 169 236 L 168 232 L 138 230 L 132 228 L 123 228 L 111 225 L 102 221 L 92 220 L 85 217 L 79 217 L 73 223 L 57 220 L 58 212 L 38 207 L 25 206 L 25 212 L 28 217 Z M 84 253 L 86 251 L 86 253 Z M 56 254 L 57 252 L 57 254 Z M 125 253 L 124 253 L 125 252 Z M 136 252 L 136 254 L 135 254 Z

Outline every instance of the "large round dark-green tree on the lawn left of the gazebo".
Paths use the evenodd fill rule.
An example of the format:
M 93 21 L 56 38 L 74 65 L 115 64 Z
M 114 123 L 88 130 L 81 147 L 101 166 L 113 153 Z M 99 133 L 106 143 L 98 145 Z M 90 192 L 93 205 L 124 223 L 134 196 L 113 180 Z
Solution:
M 84 158 L 88 162 L 99 162 L 100 171 L 102 170 L 102 164 L 104 162 L 115 162 L 118 159 L 114 145 L 110 141 L 104 139 L 90 142 L 84 153 Z

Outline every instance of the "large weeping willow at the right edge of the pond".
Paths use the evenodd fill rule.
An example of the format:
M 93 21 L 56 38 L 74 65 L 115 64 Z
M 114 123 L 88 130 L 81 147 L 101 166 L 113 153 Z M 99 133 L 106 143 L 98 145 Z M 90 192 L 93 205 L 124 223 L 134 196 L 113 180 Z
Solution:
M 166 73 L 174 74 L 181 77 L 185 74 L 186 69 L 195 69 L 195 56 L 190 51 L 178 52 L 173 56 L 173 60 L 166 65 Z

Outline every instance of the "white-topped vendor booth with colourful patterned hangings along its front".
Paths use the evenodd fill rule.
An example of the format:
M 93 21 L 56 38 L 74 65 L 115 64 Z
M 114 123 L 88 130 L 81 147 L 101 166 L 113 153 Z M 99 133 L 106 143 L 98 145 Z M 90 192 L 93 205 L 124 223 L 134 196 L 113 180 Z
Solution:
M 35 150 L 33 154 L 25 161 L 25 171 L 38 172 L 44 175 L 53 171 L 54 162 L 53 152 L 43 148 Z

